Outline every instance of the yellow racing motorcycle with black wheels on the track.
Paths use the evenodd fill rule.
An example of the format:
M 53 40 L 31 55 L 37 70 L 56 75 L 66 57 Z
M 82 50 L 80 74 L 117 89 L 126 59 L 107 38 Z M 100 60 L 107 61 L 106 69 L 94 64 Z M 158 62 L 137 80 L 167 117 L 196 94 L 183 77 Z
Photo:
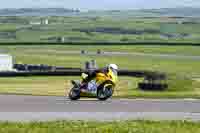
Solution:
M 86 73 L 82 73 L 81 78 L 87 78 Z M 71 100 L 78 100 L 81 97 L 97 98 L 104 101 L 112 97 L 114 88 L 118 80 L 117 71 L 109 69 L 108 73 L 97 73 L 96 77 L 88 83 L 72 80 L 72 89 L 69 92 Z

